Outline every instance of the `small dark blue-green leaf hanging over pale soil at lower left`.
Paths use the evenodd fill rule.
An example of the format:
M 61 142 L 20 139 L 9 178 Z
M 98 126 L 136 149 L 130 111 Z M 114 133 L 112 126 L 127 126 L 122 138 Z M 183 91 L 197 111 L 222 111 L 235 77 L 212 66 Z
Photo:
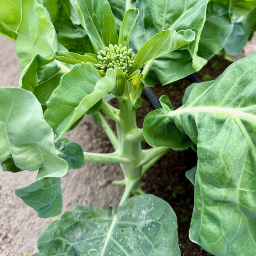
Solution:
M 61 214 L 61 178 L 43 178 L 29 186 L 16 189 L 15 194 L 25 204 L 32 207 L 40 218 L 50 218 Z

